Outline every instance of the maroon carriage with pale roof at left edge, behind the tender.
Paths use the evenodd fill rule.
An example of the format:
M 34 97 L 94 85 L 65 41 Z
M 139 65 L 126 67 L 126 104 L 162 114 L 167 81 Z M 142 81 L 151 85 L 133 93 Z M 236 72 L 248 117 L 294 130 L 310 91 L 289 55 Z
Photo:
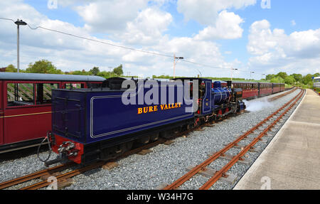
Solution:
M 51 90 L 97 87 L 104 77 L 0 73 L 0 153 L 38 145 L 51 129 Z

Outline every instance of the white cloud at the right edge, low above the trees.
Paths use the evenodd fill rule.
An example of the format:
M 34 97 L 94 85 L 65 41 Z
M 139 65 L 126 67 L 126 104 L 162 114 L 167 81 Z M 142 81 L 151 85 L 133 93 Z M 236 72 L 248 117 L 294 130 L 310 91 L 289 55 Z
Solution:
M 320 68 L 320 28 L 308 31 L 295 31 L 289 36 L 284 30 L 270 29 L 267 20 L 255 21 L 250 26 L 248 53 L 255 55 L 249 59 L 253 68 L 304 73 L 319 72 Z M 304 73 L 305 74 L 305 73 Z

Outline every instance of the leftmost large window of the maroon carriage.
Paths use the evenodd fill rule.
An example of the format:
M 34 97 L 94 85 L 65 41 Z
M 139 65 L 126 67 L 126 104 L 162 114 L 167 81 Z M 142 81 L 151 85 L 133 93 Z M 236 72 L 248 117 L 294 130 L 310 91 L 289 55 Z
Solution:
M 32 83 L 8 83 L 7 105 L 26 106 L 34 104 L 34 85 Z

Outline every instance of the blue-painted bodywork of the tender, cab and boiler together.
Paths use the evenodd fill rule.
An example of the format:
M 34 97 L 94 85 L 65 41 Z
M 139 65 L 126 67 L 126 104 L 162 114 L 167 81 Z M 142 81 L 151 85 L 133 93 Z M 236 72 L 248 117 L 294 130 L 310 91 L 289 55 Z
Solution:
M 212 87 L 212 80 L 201 79 L 198 81 L 201 109 L 186 111 L 186 108 L 192 109 L 193 104 L 184 97 L 183 100 L 179 98 L 185 91 L 185 84 L 179 87 L 175 82 L 157 82 L 146 86 L 144 82 L 137 82 L 130 95 L 127 89 L 53 90 L 53 134 L 91 144 L 195 117 L 213 116 L 215 110 L 228 104 L 232 93 L 230 88 L 221 87 L 220 82 L 214 82 Z M 151 92 L 154 87 L 159 87 L 157 99 L 156 92 Z M 161 90 L 166 90 L 165 94 Z M 169 95 L 174 96 L 170 97 L 172 101 Z M 146 96 L 157 102 L 146 104 Z M 130 97 L 134 100 L 125 104 L 123 99 Z M 242 102 L 240 105 L 240 109 L 245 108 Z

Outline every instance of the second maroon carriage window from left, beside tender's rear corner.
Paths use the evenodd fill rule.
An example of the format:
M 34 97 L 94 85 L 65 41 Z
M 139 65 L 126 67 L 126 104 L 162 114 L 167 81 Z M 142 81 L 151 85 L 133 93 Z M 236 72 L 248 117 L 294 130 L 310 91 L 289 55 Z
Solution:
M 51 103 L 51 90 L 58 89 L 58 84 L 37 84 L 37 104 Z

